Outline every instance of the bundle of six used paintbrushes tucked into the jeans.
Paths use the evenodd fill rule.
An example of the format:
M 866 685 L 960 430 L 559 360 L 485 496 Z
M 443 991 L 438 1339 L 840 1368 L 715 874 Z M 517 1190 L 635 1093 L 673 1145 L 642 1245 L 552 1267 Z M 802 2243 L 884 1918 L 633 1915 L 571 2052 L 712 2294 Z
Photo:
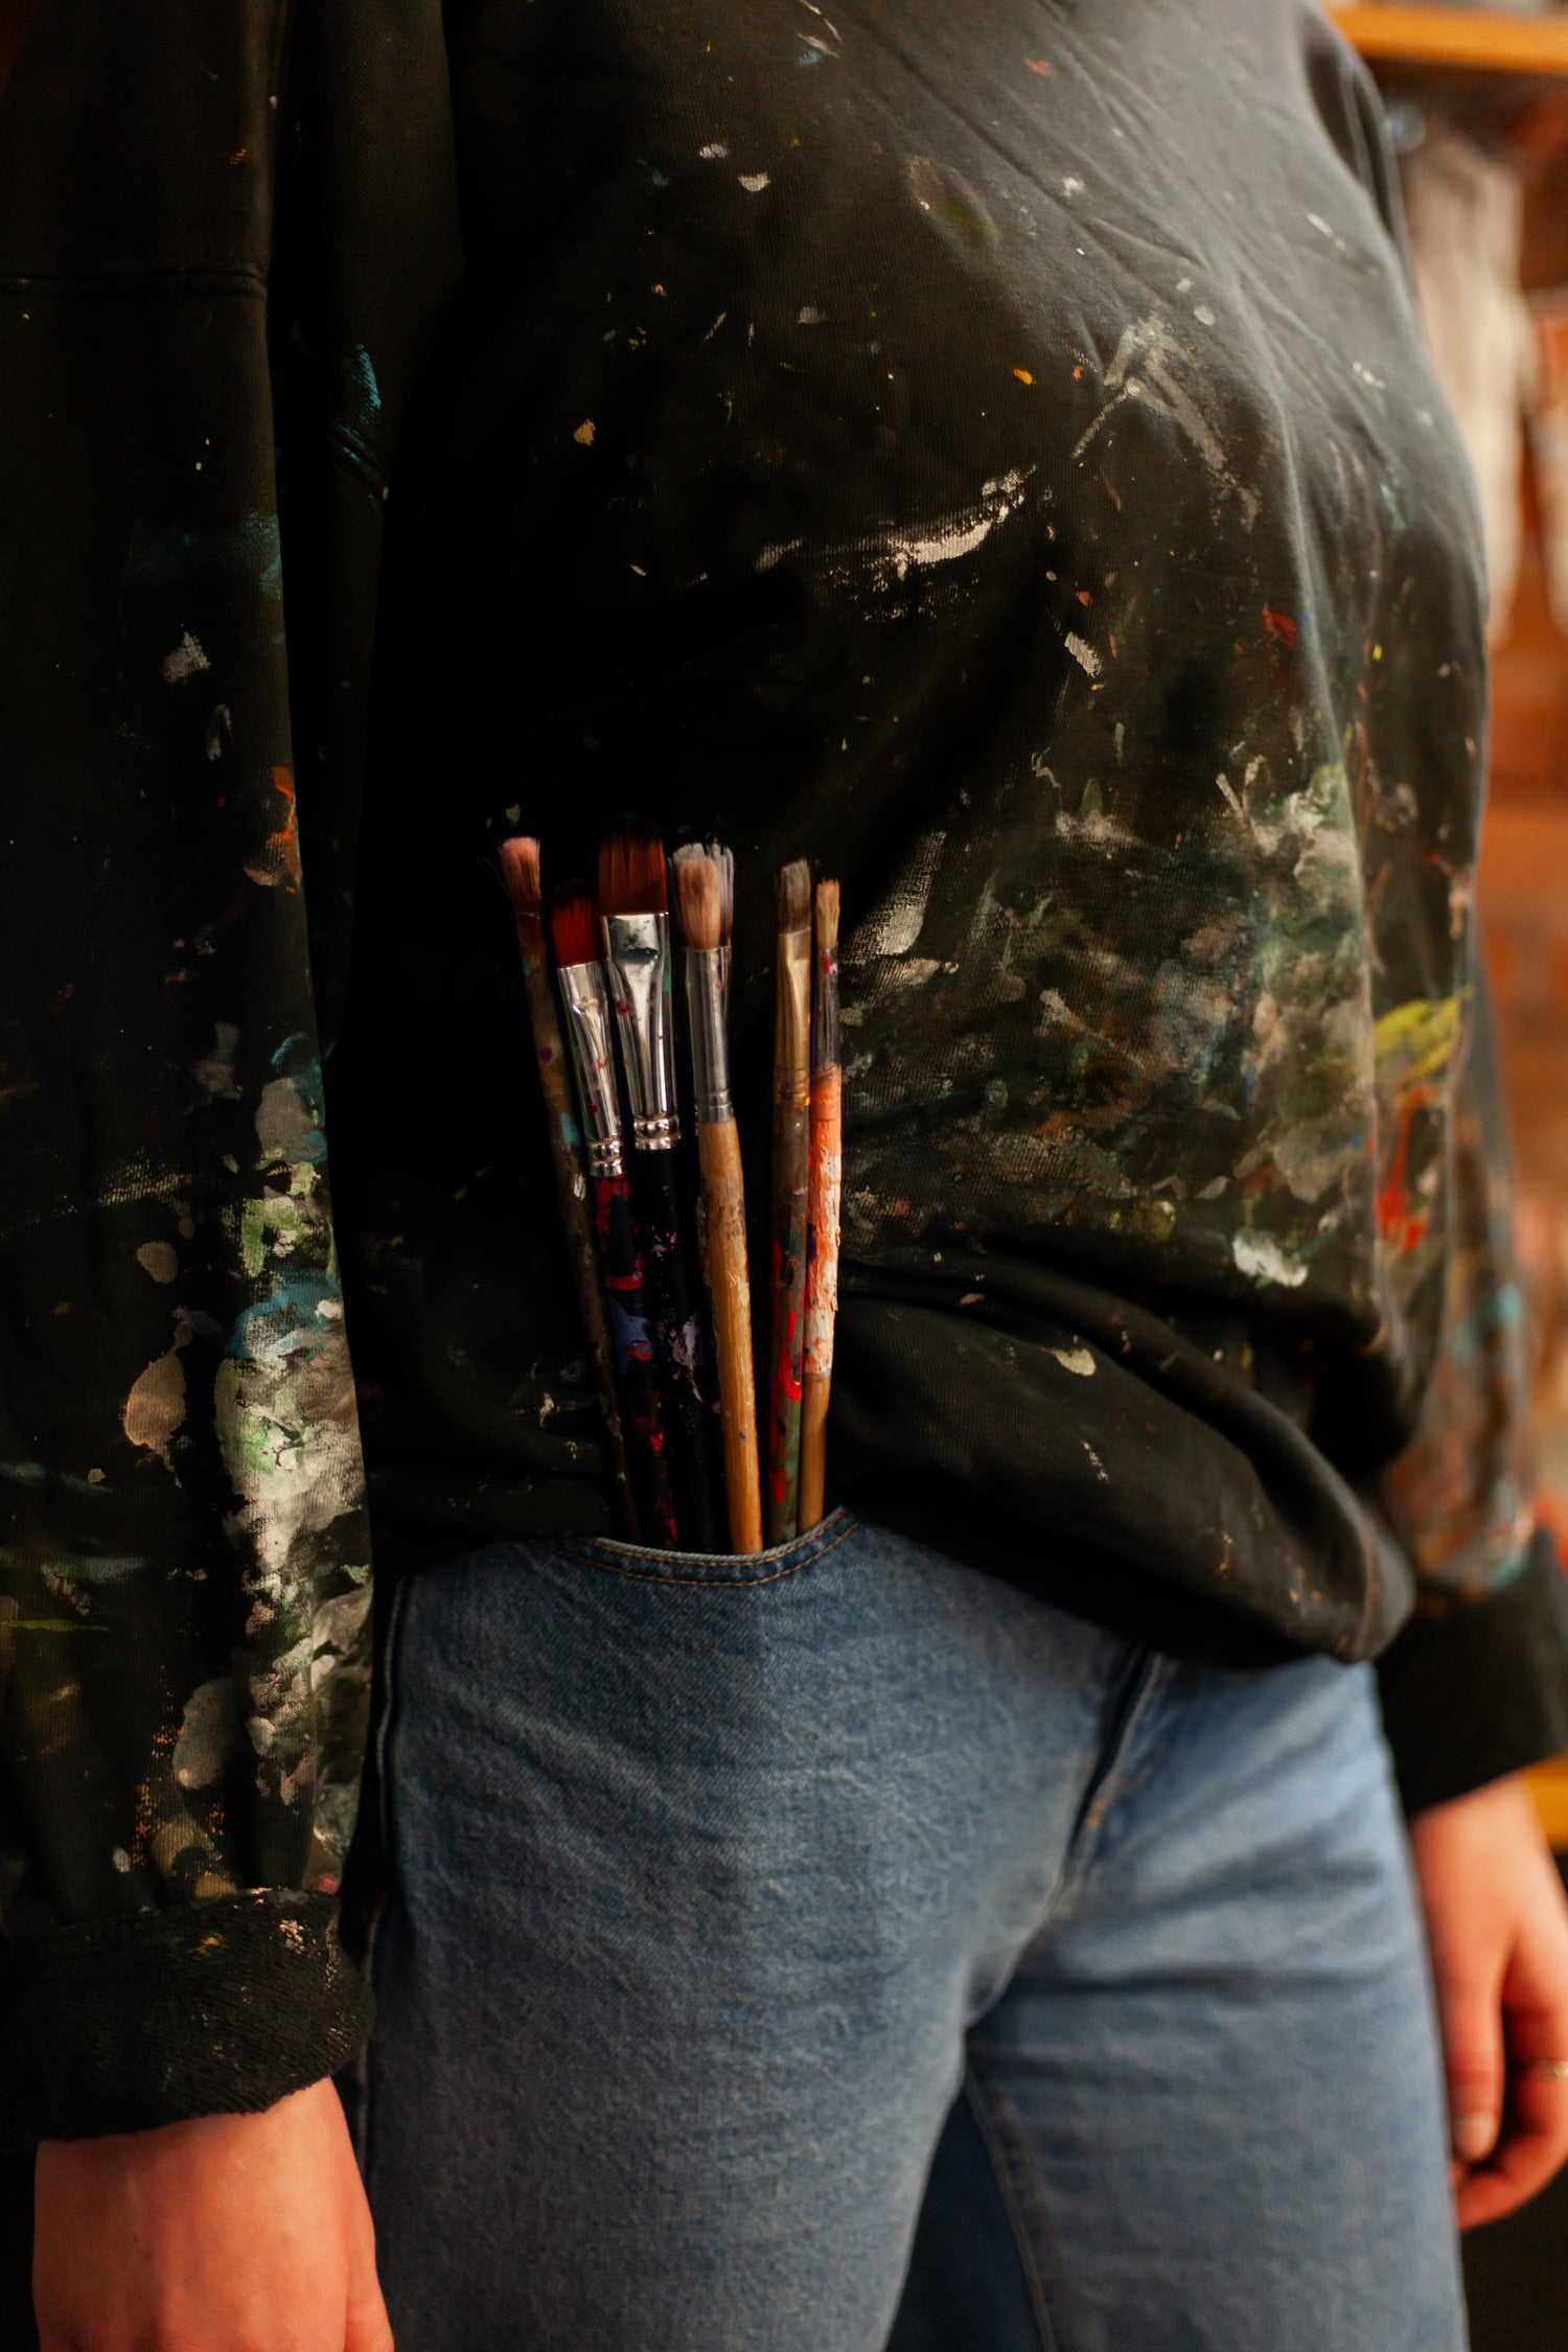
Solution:
M 672 863 L 684 941 L 696 1200 L 682 1197 L 686 1162 L 679 1152 L 663 842 L 651 826 L 623 821 L 599 851 L 597 896 L 583 884 L 555 894 L 550 938 L 559 1018 L 543 946 L 538 842 L 503 844 L 562 1221 L 602 1371 L 611 1468 L 630 1494 L 628 1519 L 644 1541 L 665 1550 L 717 1548 L 708 1446 L 712 1392 L 724 1454 L 729 1548 L 759 1552 L 764 1475 L 752 1374 L 752 1289 L 729 1073 L 733 858 L 717 844 L 693 844 L 679 849 Z M 839 1254 L 837 917 L 839 887 L 823 882 L 816 894 L 813 955 L 809 868 L 795 863 L 780 873 L 769 1543 L 785 1543 L 823 1515 Z M 576 1073 L 581 1157 L 569 1117 L 562 1030 Z M 616 1075 L 616 1044 L 623 1084 Z M 689 1225 L 701 1235 L 710 1350 L 689 1270 Z

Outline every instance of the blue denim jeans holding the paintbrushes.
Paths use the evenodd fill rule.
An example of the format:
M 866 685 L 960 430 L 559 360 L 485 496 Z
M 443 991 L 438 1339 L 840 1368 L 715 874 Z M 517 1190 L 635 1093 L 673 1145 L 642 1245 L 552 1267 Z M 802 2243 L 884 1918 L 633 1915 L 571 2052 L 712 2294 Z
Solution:
M 839 1512 L 400 1595 L 360 2145 L 400 2352 L 1462 2352 L 1366 1670 Z

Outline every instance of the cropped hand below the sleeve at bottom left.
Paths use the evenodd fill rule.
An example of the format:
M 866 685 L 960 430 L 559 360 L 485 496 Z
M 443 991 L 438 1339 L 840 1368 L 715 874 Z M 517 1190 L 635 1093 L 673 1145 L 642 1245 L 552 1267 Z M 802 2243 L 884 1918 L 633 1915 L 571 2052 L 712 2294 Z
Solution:
M 42 2352 L 393 2352 L 339 2093 L 45 2140 L 33 2303 Z

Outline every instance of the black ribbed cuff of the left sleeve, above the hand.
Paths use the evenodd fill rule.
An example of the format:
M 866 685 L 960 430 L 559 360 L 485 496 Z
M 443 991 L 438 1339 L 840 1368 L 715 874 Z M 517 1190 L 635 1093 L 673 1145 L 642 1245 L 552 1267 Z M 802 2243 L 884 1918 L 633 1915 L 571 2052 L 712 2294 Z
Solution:
M 346 2065 L 371 2018 L 331 1896 L 92 1919 L 0 1959 L 0 2124 L 87 2140 L 256 2114 Z

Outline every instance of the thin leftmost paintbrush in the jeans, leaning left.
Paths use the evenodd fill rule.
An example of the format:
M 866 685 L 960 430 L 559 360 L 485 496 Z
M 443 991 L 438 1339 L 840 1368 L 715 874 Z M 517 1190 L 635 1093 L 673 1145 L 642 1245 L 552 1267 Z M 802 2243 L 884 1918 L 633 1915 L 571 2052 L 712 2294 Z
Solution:
M 571 1070 L 555 1011 L 555 988 L 550 985 L 550 948 L 545 943 L 545 917 L 538 891 L 538 842 L 531 835 L 501 842 L 501 880 L 505 882 L 512 915 L 517 917 L 517 948 L 522 953 L 522 981 L 529 995 L 529 1023 L 534 1030 L 534 1056 L 538 1061 L 538 1084 L 545 1098 L 545 1124 L 550 1129 L 550 1157 L 555 1162 L 555 1195 L 559 1200 L 562 1228 L 567 1232 L 567 1258 L 571 1282 L 588 1334 L 599 1385 L 599 1414 L 604 1416 L 604 1442 L 609 1468 L 616 1482 L 616 1501 L 632 1541 L 637 1541 L 637 1510 L 625 1475 L 625 1432 L 621 1430 L 621 1406 L 616 1402 L 616 1369 L 609 1345 L 609 1317 L 604 1312 L 604 1284 L 599 1277 L 599 1251 L 588 1207 L 588 1171 L 583 1167 L 583 1134 L 571 1101 Z

